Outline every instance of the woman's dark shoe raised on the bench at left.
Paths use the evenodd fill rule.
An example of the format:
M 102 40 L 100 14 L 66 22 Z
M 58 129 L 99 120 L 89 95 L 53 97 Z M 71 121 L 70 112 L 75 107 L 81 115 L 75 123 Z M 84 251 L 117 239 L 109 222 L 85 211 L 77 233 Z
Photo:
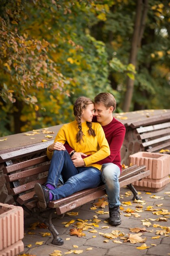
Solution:
M 34 191 L 38 198 L 39 207 L 44 209 L 47 208 L 50 201 L 49 189 L 46 186 L 36 183 L 34 186 Z

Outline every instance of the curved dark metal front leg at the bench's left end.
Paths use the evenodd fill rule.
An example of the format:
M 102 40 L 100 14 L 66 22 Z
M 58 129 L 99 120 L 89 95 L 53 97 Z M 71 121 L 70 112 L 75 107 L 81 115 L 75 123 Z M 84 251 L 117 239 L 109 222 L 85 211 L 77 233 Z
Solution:
M 52 213 L 49 214 L 48 221 L 45 221 L 44 223 L 47 225 L 48 229 L 52 233 L 52 236 L 53 236 L 52 244 L 63 245 L 64 243 L 63 239 L 59 237 L 59 233 L 57 232 L 56 228 L 52 224 Z

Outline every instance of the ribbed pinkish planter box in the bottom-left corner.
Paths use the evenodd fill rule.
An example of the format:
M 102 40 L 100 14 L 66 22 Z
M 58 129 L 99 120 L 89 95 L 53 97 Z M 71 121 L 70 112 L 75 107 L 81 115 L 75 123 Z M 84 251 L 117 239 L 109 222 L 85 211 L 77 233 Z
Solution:
M 24 213 L 22 207 L 0 203 L 0 256 L 24 251 Z

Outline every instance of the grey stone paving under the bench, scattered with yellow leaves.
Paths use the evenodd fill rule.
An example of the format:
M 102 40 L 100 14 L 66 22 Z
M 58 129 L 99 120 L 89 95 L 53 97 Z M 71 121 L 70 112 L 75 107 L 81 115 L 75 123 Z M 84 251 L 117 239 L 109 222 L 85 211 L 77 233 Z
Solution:
M 121 202 L 132 202 L 132 194 L 128 197 L 125 196 L 125 193 L 129 191 L 126 188 L 122 188 L 120 191 L 121 195 Z M 170 194 L 167 192 L 170 192 L 170 184 L 168 184 L 165 189 L 162 191 L 159 191 L 157 193 L 151 193 L 146 194 L 146 192 L 141 191 L 142 200 L 144 200 L 146 204 L 142 204 L 143 210 L 146 209 L 148 206 L 153 206 L 153 209 L 167 209 L 168 212 L 170 212 Z M 150 198 L 150 196 L 156 195 L 159 198 Z M 96 200 L 97 202 L 98 200 Z M 67 255 L 65 252 L 68 252 L 69 250 L 83 250 L 83 252 L 80 254 L 81 256 L 167 256 L 170 255 L 170 233 L 169 234 L 163 234 L 159 235 L 159 238 L 152 239 L 152 237 L 158 236 L 156 234 L 157 230 L 166 230 L 161 229 L 161 227 L 170 227 L 170 214 L 167 215 L 156 215 L 153 214 L 153 211 L 142 211 L 138 214 L 141 216 L 139 218 L 135 218 L 134 215 L 131 216 L 124 216 L 125 214 L 128 214 L 127 212 L 124 212 L 128 208 L 130 209 L 139 209 L 137 208 L 137 203 L 132 202 L 132 205 L 122 205 L 124 209 L 122 209 L 121 212 L 121 219 L 122 224 L 117 227 L 112 227 L 108 223 L 104 222 L 109 217 L 109 214 L 98 214 L 95 213 L 95 211 L 102 211 L 104 212 L 108 211 L 108 206 L 105 207 L 105 209 L 98 208 L 96 210 L 91 210 L 90 208 L 93 206 L 94 202 L 91 202 L 89 204 L 85 204 L 77 209 L 74 209 L 74 212 L 78 212 L 78 216 L 68 216 L 65 214 L 65 216 L 62 219 L 57 218 L 54 215 L 53 218 L 53 224 L 57 227 L 57 230 L 64 240 L 64 245 L 56 246 L 52 245 L 52 236 L 46 236 L 42 237 L 39 232 L 48 232 L 48 229 L 40 229 L 36 228 L 35 230 L 28 229 L 30 225 L 34 222 L 37 222 L 35 218 L 26 217 L 24 220 L 24 252 L 28 255 L 36 255 L 36 256 L 48 256 L 54 252 L 54 250 L 61 251 L 60 255 Z M 161 206 L 157 206 L 157 204 L 162 204 Z M 137 212 L 135 212 L 137 213 Z M 99 227 L 94 227 L 94 229 L 97 231 L 97 233 L 92 233 L 89 231 L 93 231 L 94 229 L 87 229 L 83 231 L 86 236 L 77 237 L 77 236 L 71 236 L 69 234 L 70 229 L 74 228 L 75 223 L 77 222 L 77 218 L 82 220 L 89 220 L 88 223 L 92 223 L 90 220 L 92 220 L 94 215 L 98 216 L 98 219 L 101 220 L 98 225 Z M 167 221 L 156 221 L 156 219 L 160 217 L 167 217 Z M 142 225 L 141 220 L 145 219 L 155 219 L 155 220 L 149 220 L 151 225 L 150 227 L 146 227 Z M 64 227 L 64 224 L 62 222 L 69 222 L 70 220 L 75 220 L 74 223 L 72 223 L 69 227 Z M 160 225 L 159 227 L 153 227 L 154 224 Z M 109 228 L 102 228 L 103 226 L 109 226 Z M 144 231 L 142 233 L 142 238 L 146 238 L 146 242 L 144 242 L 147 247 L 147 249 L 136 249 L 136 247 L 140 247 L 144 243 L 130 243 L 127 241 L 124 243 L 124 240 L 120 239 L 124 236 L 128 236 L 128 234 L 139 234 L 135 232 L 131 232 L 129 228 L 144 228 L 146 227 L 147 231 Z M 120 232 L 124 233 L 124 236 L 119 236 L 115 239 L 109 239 L 105 238 L 102 233 L 111 233 L 111 231 L 119 230 Z M 35 232 L 35 234 L 28 234 L 28 231 Z M 149 232 L 153 231 L 153 232 Z M 94 237 L 95 236 L 95 237 Z M 67 240 L 67 239 L 70 240 Z M 104 242 L 104 240 L 108 240 L 109 242 Z M 113 243 L 113 240 L 118 240 L 122 243 Z M 36 242 L 43 241 L 42 245 L 35 245 Z M 27 248 L 27 245 L 31 244 L 31 248 Z M 78 246 L 77 248 L 74 248 L 73 245 Z M 86 250 L 88 248 L 92 248 L 91 250 Z M 55 254 L 57 256 L 57 254 Z M 59 254 L 58 254 L 59 255 Z M 72 252 L 72 255 L 74 255 L 74 252 Z

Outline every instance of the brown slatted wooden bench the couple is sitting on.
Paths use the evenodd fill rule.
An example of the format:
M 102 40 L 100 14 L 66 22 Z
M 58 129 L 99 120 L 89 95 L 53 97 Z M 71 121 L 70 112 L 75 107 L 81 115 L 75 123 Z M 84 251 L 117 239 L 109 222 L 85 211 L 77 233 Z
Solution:
M 50 166 L 50 161 L 46 156 L 46 148 L 51 143 L 52 141 L 48 141 L 44 144 L 15 149 L 13 152 L 2 152 L 0 162 L 4 164 L 3 173 L 9 195 L 13 196 L 17 205 L 22 206 L 25 211 L 47 225 L 53 235 L 52 244 L 63 245 L 63 240 L 52 225 L 52 213 L 56 212 L 60 216 L 82 204 L 100 198 L 106 194 L 106 191 L 104 184 L 101 184 L 95 189 L 85 189 L 66 198 L 52 201 L 45 210 L 39 208 L 37 200 L 33 198 L 34 185 L 36 182 L 41 184 L 46 182 Z M 148 176 L 150 171 L 145 169 L 146 166 L 144 165 L 134 165 L 123 169 L 120 175 L 120 187 L 127 185 L 133 192 L 133 200 L 138 200 L 140 197 L 131 183 Z M 44 211 L 49 212 L 48 220 L 42 216 Z

